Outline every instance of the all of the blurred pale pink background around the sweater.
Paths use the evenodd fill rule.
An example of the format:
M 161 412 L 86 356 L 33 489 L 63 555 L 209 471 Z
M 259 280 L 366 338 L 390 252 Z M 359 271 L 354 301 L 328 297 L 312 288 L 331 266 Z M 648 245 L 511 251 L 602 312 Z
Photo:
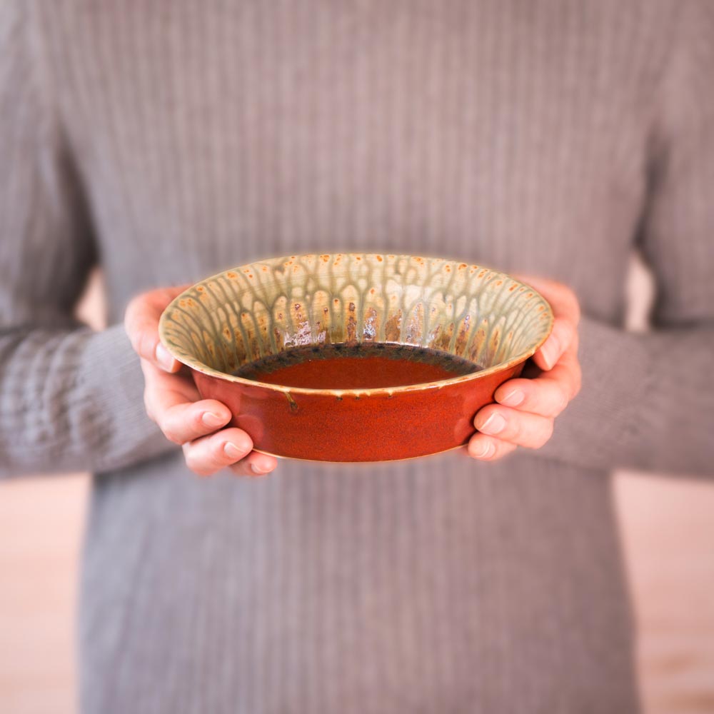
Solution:
M 633 262 L 628 326 L 646 328 L 648 273 Z M 82 318 L 100 329 L 101 276 Z M 714 473 L 614 481 L 639 628 L 646 714 L 714 713 Z M 89 477 L 0 483 L 0 712 L 76 712 L 76 578 Z M 129 713 L 128 713 L 129 714 Z M 574 713 L 575 714 L 575 713 Z

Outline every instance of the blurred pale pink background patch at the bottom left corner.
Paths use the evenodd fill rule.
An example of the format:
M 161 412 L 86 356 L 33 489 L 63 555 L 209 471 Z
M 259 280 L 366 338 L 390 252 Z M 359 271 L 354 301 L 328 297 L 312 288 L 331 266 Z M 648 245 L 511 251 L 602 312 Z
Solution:
M 0 712 L 72 714 L 74 603 L 89 480 L 0 483 Z

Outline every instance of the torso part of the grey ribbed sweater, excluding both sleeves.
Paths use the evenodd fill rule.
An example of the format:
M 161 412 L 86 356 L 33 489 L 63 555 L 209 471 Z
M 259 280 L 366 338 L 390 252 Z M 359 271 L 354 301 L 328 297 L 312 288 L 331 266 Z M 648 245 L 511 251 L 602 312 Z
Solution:
M 254 258 L 375 249 L 560 278 L 617 324 L 670 7 L 47 7 L 112 320 Z M 198 482 L 176 454 L 97 478 L 88 713 L 635 710 L 605 473 L 278 472 Z

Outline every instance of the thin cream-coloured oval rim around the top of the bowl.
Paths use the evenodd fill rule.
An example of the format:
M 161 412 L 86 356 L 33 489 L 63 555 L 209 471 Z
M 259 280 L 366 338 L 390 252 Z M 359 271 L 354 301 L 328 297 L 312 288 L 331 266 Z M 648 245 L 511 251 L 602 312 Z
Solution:
M 296 255 L 296 256 L 290 256 L 293 259 L 301 259 L 301 258 L 314 258 L 315 256 L 324 256 L 324 255 L 329 255 L 331 257 L 336 257 L 336 256 L 343 256 L 343 257 L 348 257 L 348 256 L 361 256 L 362 258 L 369 258 L 371 256 L 388 256 L 388 257 L 394 257 L 394 258 L 419 258 L 419 257 L 425 257 L 425 256 L 416 256 L 416 255 L 411 255 L 407 253 L 352 253 L 352 252 L 347 252 L 347 253 L 304 253 L 303 255 Z M 171 317 L 169 313 L 175 306 L 178 305 L 178 302 L 181 301 L 182 299 L 188 297 L 188 293 L 193 291 L 196 286 L 200 285 L 201 283 L 206 283 L 211 280 L 216 280 L 217 278 L 221 278 L 223 276 L 226 276 L 227 273 L 236 273 L 238 271 L 243 270 L 243 268 L 247 268 L 249 266 L 253 266 L 256 264 L 260 263 L 270 263 L 271 261 L 275 261 L 278 259 L 283 258 L 284 256 L 271 256 L 270 258 L 263 258 L 262 260 L 255 260 L 252 261 L 251 263 L 245 263 L 241 266 L 237 266 L 235 268 L 227 268 L 226 270 L 220 271 L 219 273 L 214 273 L 211 276 L 208 276 L 207 278 L 203 278 L 202 280 L 196 281 L 193 283 L 191 286 L 186 288 L 183 292 L 181 292 L 179 295 L 177 295 L 167 306 L 164 308 L 164 311 L 161 313 L 161 318 L 159 319 L 159 339 L 161 340 L 161 344 L 169 351 L 171 356 L 177 361 L 180 362 L 183 365 L 186 365 L 188 368 L 191 368 L 197 372 L 200 372 L 201 374 L 204 374 L 208 377 L 213 377 L 220 379 L 222 381 L 226 382 L 233 382 L 233 383 L 238 383 L 242 384 L 247 387 L 262 387 L 269 389 L 270 391 L 273 392 L 282 392 L 282 393 L 289 393 L 289 394 L 311 394 L 311 395 L 329 395 L 329 396 L 344 396 L 346 394 L 354 394 L 354 395 L 359 395 L 359 396 L 380 396 L 380 395 L 388 395 L 388 396 L 393 396 L 394 394 L 401 394 L 401 393 L 406 393 L 406 392 L 413 392 L 413 391 L 426 391 L 430 389 L 443 389 L 446 386 L 451 386 L 452 384 L 458 384 L 462 382 L 469 382 L 469 381 L 476 381 L 478 379 L 486 378 L 488 376 L 491 376 L 492 374 L 496 374 L 501 371 L 506 371 L 509 368 L 513 368 L 522 362 L 525 362 L 529 357 L 532 357 L 540 348 L 540 346 L 545 343 L 545 341 L 548 339 L 550 336 L 550 333 L 553 331 L 553 323 L 555 322 L 555 316 L 553 315 L 553 308 L 550 306 L 550 303 L 541 295 L 533 286 L 529 285 L 528 283 L 519 280 L 518 278 L 514 278 L 511 276 L 509 273 L 504 273 L 503 271 L 500 271 L 496 268 L 490 268 L 488 266 L 485 266 L 481 263 L 466 263 L 466 261 L 458 261 L 453 258 L 441 258 L 441 257 L 436 257 L 436 256 L 428 256 L 426 259 L 428 260 L 442 260 L 446 261 L 448 263 L 466 263 L 466 265 L 470 268 L 478 268 L 479 270 L 487 270 L 491 271 L 493 273 L 498 273 L 501 276 L 508 278 L 509 280 L 512 280 L 515 283 L 518 283 L 521 286 L 524 286 L 528 288 L 529 291 L 533 292 L 533 295 L 538 296 L 543 301 L 543 304 L 545 304 L 545 315 L 548 316 L 548 326 L 545 329 L 545 332 L 543 333 L 543 336 L 541 336 L 538 341 L 536 341 L 531 347 L 529 347 L 527 350 L 524 350 L 521 353 L 518 353 L 518 355 L 511 357 L 505 362 L 499 362 L 498 364 L 492 365 L 491 367 L 488 367 L 486 369 L 481 369 L 477 372 L 472 372 L 469 374 L 463 374 L 460 376 L 456 377 L 449 377 L 448 379 L 441 379 L 438 381 L 431 381 L 431 382 L 419 382 L 416 384 L 406 384 L 402 386 L 395 386 L 395 387 L 370 387 L 370 388 L 365 388 L 365 389 L 335 389 L 335 388 L 313 388 L 313 387 L 290 387 L 286 386 L 283 384 L 273 384 L 270 382 L 259 382 L 253 379 L 247 379 L 245 377 L 238 377 L 233 374 L 228 374 L 226 372 L 221 372 L 217 369 L 214 369 L 212 367 L 209 367 L 207 364 L 197 360 L 196 358 L 193 357 L 186 357 L 183 356 L 183 354 L 178 354 L 176 352 L 176 348 L 174 347 L 173 344 L 168 340 L 166 332 L 168 331 L 168 323 L 169 320 L 171 320 Z M 401 342 L 388 342 L 386 344 L 406 344 L 406 343 L 401 343 Z

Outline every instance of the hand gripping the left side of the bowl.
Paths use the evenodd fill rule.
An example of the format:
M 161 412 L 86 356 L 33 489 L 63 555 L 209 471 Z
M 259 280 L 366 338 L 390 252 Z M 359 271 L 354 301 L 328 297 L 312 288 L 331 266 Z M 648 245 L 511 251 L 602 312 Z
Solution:
M 240 476 L 262 476 L 273 471 L 276 458 L 253 451 L 253 441 L 242 429 L 224 428 L 231 421 L 228 407 L 201 399 L 188 368 L 159 341 L 161 313 L 186 287 L 144 293 L 126 308 L 124 327 L 144 371 L 146 413 L 166 438 L 182 446 L 186 466 L 198 476 L 226 466 Z

